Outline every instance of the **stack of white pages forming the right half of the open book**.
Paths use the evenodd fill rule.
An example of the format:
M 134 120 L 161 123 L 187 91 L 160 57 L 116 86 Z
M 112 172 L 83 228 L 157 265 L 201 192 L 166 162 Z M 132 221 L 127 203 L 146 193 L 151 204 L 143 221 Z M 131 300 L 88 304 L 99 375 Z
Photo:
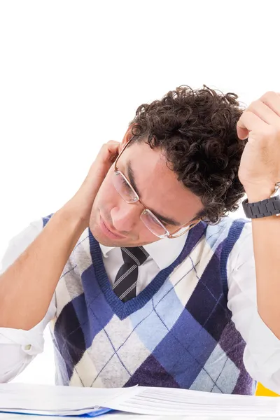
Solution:
M 127 400 L 109 403 L 125 412 L 162 416 L 279 417 L 280 398 L 229 395 L 178 388 L 137 387 Z

